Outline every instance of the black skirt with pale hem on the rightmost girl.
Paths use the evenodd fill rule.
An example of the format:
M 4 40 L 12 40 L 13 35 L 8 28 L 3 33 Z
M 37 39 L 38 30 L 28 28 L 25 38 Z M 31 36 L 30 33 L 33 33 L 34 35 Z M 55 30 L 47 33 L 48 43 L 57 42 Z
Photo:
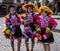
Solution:
M 41 28 L 41 32 L 39 32 L 39 34 L 42 36 L 42 40 L 39 40 L 39 39 L 38 40 L 42 43 L 52 43 L 52 42 L 54 42 L 53 33 L 51 32 L 49 37 L 46 37 L 46 36 L 44 36 L 45 31 L 46 31 L 45 28 Z

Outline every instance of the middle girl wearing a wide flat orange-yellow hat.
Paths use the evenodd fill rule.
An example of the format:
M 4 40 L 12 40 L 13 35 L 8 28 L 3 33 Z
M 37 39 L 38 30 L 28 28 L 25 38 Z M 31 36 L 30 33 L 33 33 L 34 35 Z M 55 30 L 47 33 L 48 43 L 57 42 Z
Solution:
M 27 22 L 27 26 L 26 26 L 26 24 L 24 24 L 25 29 L 26 29 L 26 27 L 30 27 L 31 28 L 31 32 L 34 32 L 35 31 L 35 25 L 34 25 L 34 22 L 35 22 L 35 19 L 34 19 L 35 13 L 33 11 L 34 10 L 37 11 L 37 7 L 33 3 L 29 2 L 28 4 L 23 5 L 22 9 L 27 11 L 26 14 L 25 14 L 26 18 L 23 19 L 23 21 L 27 20 L 26 21 Z M 26 22 L 24 22 L 24 23 L 26 23 Z M 32 33 L 32 35 L 33 35 L 33 33 Z M 31 38 L 30 33 L 29 33 L 28 37 Z M 25 44 L 26 44 L 27 51 L 29 51 L 28 44 L 26 42 L 28 42 L 28 40 L 25 40 Z M 35 44 L 34 38 L 31 38 L 31 43 L 32 43 L 31 51 L 33 51 L 34 44 Z

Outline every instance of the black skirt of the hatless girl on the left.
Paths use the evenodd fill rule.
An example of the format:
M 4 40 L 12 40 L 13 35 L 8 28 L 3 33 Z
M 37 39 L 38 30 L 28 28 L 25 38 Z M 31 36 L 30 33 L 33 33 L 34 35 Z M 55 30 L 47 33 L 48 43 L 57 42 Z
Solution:
M 16 30 L 15 30 L 14 35 L 5 34 L 5 37 L 8 38 L 8 39 L 10 39 L 10 38 L 14 38 L 14 39 L 21 38 L 22 37 L 22 31 L 20 29 L 20 26 L 16 26 L 15 28 L 16 28 Z

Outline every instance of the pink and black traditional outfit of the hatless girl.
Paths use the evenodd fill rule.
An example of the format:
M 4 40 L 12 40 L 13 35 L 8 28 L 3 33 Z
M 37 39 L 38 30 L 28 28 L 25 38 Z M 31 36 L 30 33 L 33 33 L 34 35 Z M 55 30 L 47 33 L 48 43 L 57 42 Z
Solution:
M 5 36 L 7 38 L 16 39 L 16 38 L 21 38 L 22 37 L 22 31 L 20 29 L 21 21 L 20 21 L 17 14 L 9 15 L 8 17 L 6 17 L 5 24 L 6 24 L 7 29 L 5 29 L 4 33 L 5 33 Z

